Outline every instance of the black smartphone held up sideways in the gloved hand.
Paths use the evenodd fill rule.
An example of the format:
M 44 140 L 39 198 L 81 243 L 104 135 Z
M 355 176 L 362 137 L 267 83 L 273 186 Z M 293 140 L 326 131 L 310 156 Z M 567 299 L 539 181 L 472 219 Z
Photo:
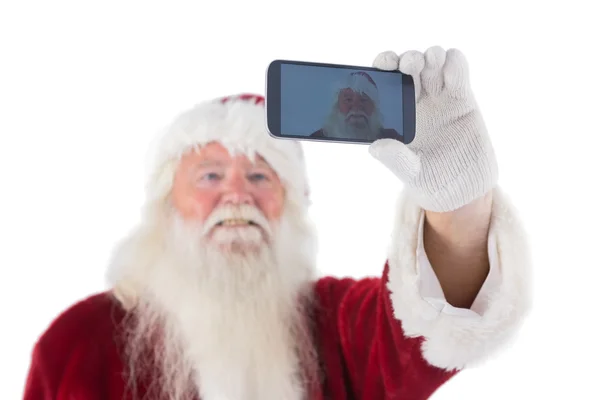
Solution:
M 400 71 L 275 60 L 265 100 L 275 138 L 356 144 L 415 138 L 414 82 Z

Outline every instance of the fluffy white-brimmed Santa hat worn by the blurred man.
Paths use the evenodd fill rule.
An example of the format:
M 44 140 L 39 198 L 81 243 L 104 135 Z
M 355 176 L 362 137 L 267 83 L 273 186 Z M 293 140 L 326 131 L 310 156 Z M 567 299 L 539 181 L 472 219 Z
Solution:
M 241 94 L 210 100 L 182 113 L 169 125 L 151 155 L 148 200 L 165 201 L 180 157 L 189 150 L 219 142 L 230 152 L 260 155 L 278 174 L 287 198 L 306 207 L 308 178 L 300 143 L 275 139 L 266 129 L 264 98 Z

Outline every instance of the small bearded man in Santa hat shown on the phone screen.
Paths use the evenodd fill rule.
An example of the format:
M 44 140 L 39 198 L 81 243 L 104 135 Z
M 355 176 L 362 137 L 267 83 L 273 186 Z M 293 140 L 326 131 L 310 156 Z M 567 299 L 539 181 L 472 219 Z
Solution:
M 366 72 L 352 72 L 334 93 L 334 102 L 322 129 L 310 137 L 350 139 L 383 138 L 402 141 L 393 128 L 384 128 L 377 84 Z

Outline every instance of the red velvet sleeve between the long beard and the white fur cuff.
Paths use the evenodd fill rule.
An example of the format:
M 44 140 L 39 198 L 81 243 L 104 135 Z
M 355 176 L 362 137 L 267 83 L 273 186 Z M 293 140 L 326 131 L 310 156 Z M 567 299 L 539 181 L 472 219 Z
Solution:
M 422 338 L 404 335 L 387 289 L 388 270 L 382 278 L 317 282 L 320 351 L 334 398 L 427 399 L 456 374 L 428 364 Z

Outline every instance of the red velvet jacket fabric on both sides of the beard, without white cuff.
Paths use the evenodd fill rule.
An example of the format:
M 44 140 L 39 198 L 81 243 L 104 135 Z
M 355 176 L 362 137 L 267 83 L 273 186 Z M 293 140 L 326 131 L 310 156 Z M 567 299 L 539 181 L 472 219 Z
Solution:
M 316 399 L 427 399 L 456 372 L 430 366 L 421 338 L 406 338 L 383 278 L 322 278 L 315 284 L 324 380 Z M 119 342 L 124 311 L 108 293 L 60 315 L 36 344 L 25 400 L 126 400 Z M 138 398 L 146 388 L 138 382 Z M 154 397 L 149 397 L 154 399 Z

